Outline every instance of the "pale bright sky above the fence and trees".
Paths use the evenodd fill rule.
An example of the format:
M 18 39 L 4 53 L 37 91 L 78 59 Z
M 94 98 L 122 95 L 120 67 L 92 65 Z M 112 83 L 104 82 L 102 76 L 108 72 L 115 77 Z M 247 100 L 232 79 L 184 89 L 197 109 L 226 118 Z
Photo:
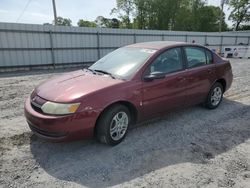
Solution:
M 220 1 L 208 0 L 208 4 L 219 6 Z M 75 26 L 79 19 L 115 17 L 110 15 L 115 6 L 116 0 L 56 0 L 57 16 L 70 18 Z M 228 8 L 224 11 L 228 17 Z M 0 0 L 0 22 L 43 24 L 53 19 L 52 0 Z

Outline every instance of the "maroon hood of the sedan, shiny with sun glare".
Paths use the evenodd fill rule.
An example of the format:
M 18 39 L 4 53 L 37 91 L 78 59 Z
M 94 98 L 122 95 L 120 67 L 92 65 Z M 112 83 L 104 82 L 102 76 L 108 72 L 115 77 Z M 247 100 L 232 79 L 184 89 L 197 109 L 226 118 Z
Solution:
M 85 95 L 124 82 L 109 75 L 79 70 L 63 74 L 40 84 L 36 94 L 53 102 L 72 102 Z

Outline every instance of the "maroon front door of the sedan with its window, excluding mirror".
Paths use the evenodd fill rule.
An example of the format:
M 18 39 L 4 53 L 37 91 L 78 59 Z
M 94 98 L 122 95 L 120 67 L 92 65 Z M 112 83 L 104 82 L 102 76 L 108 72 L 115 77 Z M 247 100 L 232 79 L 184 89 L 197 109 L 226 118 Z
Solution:
M 148 67 L 145 75 L 162 77 L 143 82 L 143 111 L 151 117 L 181 106 L 186 97 L 186 71 L 181 48 L 172 48 L 160 54 Z

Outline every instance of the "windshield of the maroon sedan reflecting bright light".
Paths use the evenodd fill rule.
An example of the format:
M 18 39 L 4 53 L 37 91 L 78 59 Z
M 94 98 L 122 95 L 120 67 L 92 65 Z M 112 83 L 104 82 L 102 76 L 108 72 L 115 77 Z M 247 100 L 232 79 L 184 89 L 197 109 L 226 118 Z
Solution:
M 119 48 L 101 58 L 89 69 L 117 78 L 129 79 L 155 52 L 154 49 Z

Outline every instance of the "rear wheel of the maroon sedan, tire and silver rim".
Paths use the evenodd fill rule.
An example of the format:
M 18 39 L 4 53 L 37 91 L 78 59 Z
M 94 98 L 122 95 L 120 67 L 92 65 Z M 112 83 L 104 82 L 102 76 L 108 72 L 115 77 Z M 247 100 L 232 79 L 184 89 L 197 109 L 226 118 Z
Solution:
M 208 93 L 205 106 L 208 109 L 215 109 L 220 105 L 222 98 L 223 98 L 223 86 L 221 85 L 221 83 L 216 82 Z

